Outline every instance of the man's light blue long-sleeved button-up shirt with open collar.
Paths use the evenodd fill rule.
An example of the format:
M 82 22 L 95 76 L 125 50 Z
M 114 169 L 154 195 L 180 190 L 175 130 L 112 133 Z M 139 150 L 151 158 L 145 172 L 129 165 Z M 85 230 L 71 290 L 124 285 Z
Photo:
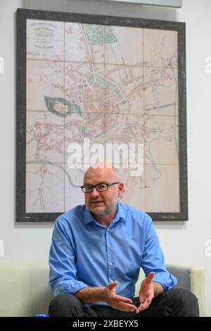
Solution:
M 116 293 L 132 298 L 140 267 L 146 276 L 154 271 L 153 281 L 164 289 L 177 285 L 177 278 L 166 269 L 150 216 L 122 203 L 108 227 L 98 223 L 85 205 L 59 216 L 49 266 L 49 285 L 55 296 L 74 294 L 84 287 L 105 287 L 117 280 Z

